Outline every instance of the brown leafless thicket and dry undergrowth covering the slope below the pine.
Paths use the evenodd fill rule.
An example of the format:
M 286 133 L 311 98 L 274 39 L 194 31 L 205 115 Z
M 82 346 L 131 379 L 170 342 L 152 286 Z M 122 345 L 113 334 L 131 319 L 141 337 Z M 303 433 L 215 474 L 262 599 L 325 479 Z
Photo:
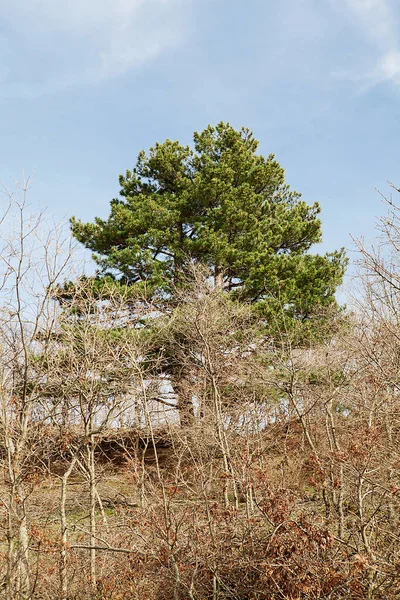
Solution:
M 144 335 L 137 306 L 136 325 L 121 326 L 132 315 L 121 291 L 99 301 L 82 283 L 60 308 L 47 238 L 45 292 L 29 295 L 36 230 L 25 235 L 17 209 L 25 233 L 2 254 L 2 597 L 400 598 L 387 267 L 363 254 L 363 311 L 336 316 L 324 342 L 261 335 L 204 273 Z

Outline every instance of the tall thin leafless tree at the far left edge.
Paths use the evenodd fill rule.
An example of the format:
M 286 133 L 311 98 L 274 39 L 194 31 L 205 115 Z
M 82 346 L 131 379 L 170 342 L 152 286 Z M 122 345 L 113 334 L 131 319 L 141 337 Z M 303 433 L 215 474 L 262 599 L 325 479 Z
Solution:
M 37 334 L 50 331 L 56 307 L 52 288 L 66 273 L 71 243 L 62 226 L 46 228 L 43 214 L 29 213 L 29 180 L 15 193 L 3 190 L 1 221 L 1 435 L 5 449 L 7 513 L 6 597 L 33 593 L 29 555 L 27 472 L 40 380 L 36 377 Z

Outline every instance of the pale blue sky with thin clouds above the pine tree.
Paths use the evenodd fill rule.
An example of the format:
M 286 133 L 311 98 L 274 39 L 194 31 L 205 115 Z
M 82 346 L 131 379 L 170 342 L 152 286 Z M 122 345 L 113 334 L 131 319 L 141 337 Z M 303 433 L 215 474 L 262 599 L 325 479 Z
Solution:
M 400 185 L 396 0 L 0 0 L 0 180 L 56 219 L 106 217 L 166 138 L 253 130 L 322 207 L 319 252 L 377 235 Z M 393 197 L 396 201 L 396 197 Z M 400 196 L 399 196 L 400 202 Z

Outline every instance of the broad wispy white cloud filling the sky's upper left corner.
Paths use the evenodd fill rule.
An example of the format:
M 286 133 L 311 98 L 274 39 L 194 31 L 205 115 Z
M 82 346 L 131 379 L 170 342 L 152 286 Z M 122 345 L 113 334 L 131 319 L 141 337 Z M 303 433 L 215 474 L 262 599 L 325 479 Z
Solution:
M 190 0 L 0 0 L 2 94 L 38 96 L 126 73 L 182 41 L 189 8 Z

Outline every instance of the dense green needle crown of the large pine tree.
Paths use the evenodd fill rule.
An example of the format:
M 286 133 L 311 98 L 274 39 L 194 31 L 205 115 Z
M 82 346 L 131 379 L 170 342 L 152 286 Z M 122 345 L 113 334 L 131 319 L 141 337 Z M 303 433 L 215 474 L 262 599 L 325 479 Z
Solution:
M 71 219 L 100 273 L 166 297 L 190 262 L 205 264 L 238 298 L 307 316 L 335 303 L 346 258 L 311 254 L 321 241 L 320 206 L 285 183 L 273 154 L 257 154 L 246 128 L 228 123 L 194 134 L 194 147 L 166 140 L 120 176 L 107 220 Z M 263 308 L 264 307 L 264 308 Z

